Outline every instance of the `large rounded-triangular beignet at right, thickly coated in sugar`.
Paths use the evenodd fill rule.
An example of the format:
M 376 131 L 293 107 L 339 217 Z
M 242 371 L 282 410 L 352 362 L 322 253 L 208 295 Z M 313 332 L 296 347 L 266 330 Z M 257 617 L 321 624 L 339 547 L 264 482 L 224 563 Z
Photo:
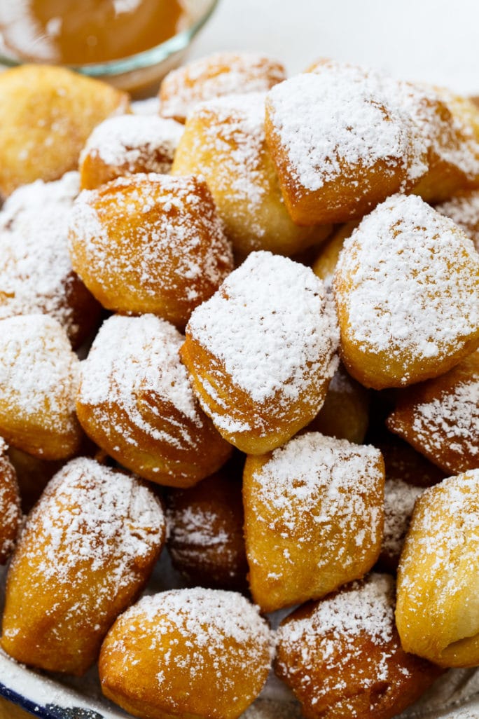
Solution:
M 396 195 L 346 240 L 333 282 L 348 372 L 366 387 L 447 372 L 479 344 L 479 255 L 421 198 Z

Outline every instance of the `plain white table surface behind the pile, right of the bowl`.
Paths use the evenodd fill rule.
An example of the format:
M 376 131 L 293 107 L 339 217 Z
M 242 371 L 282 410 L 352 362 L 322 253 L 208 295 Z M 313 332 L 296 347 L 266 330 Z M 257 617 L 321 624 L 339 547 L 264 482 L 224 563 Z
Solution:
M 259 50 L 289 73 L 330 57 L 479 95 L 478 0 L 220 0 L 190 58 Z

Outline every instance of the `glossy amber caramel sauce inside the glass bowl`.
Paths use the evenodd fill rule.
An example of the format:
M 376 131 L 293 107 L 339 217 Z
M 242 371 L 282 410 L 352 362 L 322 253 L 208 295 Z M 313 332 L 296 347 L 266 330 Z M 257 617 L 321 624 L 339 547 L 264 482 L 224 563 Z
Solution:
M 0 52 L 37 63 L 103 63 L 159 45 L 186 21 L 181 0 L 12 0 L 0 2 Z

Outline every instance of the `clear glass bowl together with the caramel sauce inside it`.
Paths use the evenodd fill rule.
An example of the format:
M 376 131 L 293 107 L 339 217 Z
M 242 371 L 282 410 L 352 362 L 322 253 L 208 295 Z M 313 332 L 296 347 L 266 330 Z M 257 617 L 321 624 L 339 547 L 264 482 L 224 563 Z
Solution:
M 218 0 L 0 3 L 0 68 L 65 65 L 134 96 L 180 65 Z

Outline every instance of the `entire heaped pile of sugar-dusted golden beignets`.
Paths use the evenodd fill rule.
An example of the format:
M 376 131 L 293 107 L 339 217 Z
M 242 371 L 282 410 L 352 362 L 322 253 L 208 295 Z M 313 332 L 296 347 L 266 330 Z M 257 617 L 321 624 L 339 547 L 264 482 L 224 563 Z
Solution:
M 479 109 L 226 52 L 158 107 L 0 75 L 1 648 L 390 719 L 479 665 Z

